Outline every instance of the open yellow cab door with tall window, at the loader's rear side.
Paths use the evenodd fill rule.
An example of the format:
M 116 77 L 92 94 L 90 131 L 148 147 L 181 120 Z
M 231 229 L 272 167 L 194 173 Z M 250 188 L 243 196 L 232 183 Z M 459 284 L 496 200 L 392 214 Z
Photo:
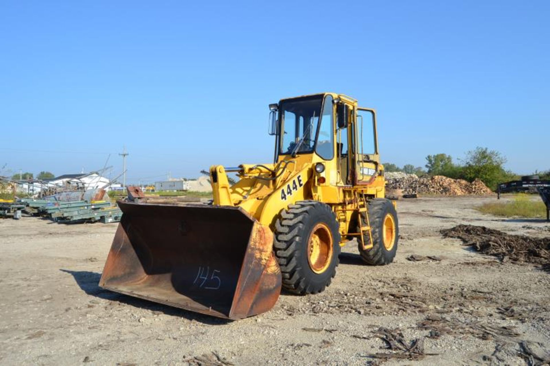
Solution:
M 355 184 L 370 184 L 378 173 L 380 156 L 374 109 L 357 108 L 355 114 Z

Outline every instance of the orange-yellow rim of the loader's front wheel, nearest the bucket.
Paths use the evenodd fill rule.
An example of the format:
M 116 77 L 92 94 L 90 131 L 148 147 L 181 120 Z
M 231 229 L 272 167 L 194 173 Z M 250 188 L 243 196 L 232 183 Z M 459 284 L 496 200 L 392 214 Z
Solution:
M 327 270 L 332 259 L 332 234 L 325 224 L 317 224 L 307 240 L 307 262 L 313 272 Z

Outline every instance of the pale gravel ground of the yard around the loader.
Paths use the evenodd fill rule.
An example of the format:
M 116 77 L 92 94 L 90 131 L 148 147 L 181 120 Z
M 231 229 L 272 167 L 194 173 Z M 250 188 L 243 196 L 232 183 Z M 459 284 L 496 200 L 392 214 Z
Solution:
M 550 274 L 500 264 L 439 234 L 471 224 L 550 236 L 544 221 L 472 209 L 494 199 L 399 201 L 394 263 L 363 265 L 349 242 L 326 291 L 283 293 L 270 312 L 239 321 L 100 289 L 116 224 L 0 220 L 0 364 L 522 365 L 533 358 L 525 346 L 547 357 Z M 436 257 L 415 262 L 406 259 L 411 254 Z M 419 345 L 388 350 L 384 334 L 405 350 Z

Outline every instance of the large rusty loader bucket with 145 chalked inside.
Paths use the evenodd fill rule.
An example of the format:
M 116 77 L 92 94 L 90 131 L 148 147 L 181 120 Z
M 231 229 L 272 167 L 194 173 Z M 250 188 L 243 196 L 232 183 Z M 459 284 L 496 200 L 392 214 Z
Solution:
M 273 234 L 239 207 L 119 202 L 100 286 L 216 317 L 266 312 L 281 292 Z

